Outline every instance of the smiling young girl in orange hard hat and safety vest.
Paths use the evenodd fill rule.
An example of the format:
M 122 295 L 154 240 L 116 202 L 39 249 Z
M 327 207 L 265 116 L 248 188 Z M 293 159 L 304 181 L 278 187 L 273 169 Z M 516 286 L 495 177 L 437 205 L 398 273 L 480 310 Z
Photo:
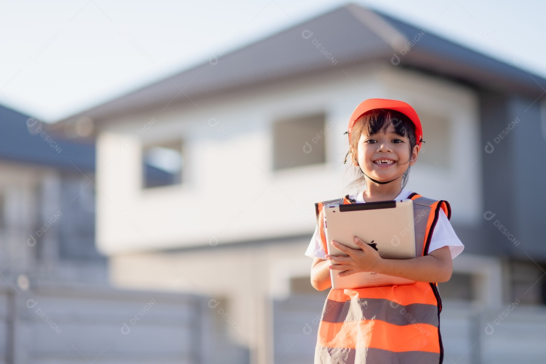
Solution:
M 347 157 L 358 170 L 357 182 L 365 189 L 357 195 L 316 204 L 317 228 L 305 253 L 314 259 L 311 284 L 319 291 L 330 288 L 330 271 L 339 276 L 373 271 L 417 282 L 331 289 L 318 328 L 314 362 L 442 363 L 442 302 L 437 283 L 449 280 L 452 259 L 464 246 L 449 223 L 447 201 L 427 199 L 404 188 L 423 142 L 419 117 L 401 101 L 365 100 L 349 120 L 348 135 Z M 360 249 L 333 242 L 347 256 L 327 254 L 324 205 L 400 199 L 413 200 L 417 258 L 383 259 L 359 237 L 354 243 Z M 420 216 L 423 211 L 426 216 L 418 219 L 416 208 Z

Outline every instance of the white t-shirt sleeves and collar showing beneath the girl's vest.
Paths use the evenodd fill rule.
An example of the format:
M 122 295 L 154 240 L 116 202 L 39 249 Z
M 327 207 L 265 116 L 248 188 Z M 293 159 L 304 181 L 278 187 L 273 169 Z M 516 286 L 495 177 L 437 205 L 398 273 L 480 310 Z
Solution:
M 408 192 L 406 189 L 402 189 L 402 192 L 400 192 L 395 200 L 405 200 L 410 194 L 411 192 Z M 361 192 L 358 195 L 351 195 L 349 198 L 356 200 L 358 203 L 366 202 L 364 201 L 364 192 Z M 441 209 L 438 216 L 438 222 L 436 223 L 434 233 L 432 234 L 432 239 L 430 241 L 429 253 L 445 246 L 449 247 L 452 259 L 461 254 L 462 249 L 465 248 L 465 246 L 459 240 L 459 237 L 455 234 L 453 227 L 449 223 L 446 213 L 444 213 Z M 313 237 L 311 238 L 311 242 L 305 251 L 305 255 L 310 258 L 326 259 L 326 252 L 322 247 L 321 233 L 318 230 L 318 225 L 314 229 Z

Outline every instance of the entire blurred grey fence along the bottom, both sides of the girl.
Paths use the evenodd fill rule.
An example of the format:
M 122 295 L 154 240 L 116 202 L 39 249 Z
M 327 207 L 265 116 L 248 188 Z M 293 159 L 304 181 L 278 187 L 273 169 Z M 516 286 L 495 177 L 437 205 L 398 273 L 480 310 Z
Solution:
M 313 361 L 322 296 L 274 301 L 275 364 Z M 245 364 L 210 299 L 113 288 L 0 287 L 0 364 Z M 225 323 L 222 324 L 225 325 Z M 543 363 L 546 309 L 444 302 L 444 363 Z

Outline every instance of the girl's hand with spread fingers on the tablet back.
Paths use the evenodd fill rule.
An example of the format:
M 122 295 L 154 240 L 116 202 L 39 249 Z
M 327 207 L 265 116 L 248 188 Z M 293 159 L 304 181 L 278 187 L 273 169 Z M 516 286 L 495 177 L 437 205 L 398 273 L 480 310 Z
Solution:
M 347 254 L 347 256 L 334 256 L 330 254 L 326 256 L 326 259 L 332 263 L 328 266 L 328 269 L 340 271 L 338 273 L 339 277 L 350 276 L 359 272 L 373 272 L 375 271 L 373 266 L 378 264 L 382 259 L 377 250 L 366 244 L 359 237 L 355 237 L 353 241 L 360 249 L 349 248 L 337 241 L 333 241 L 332 246 L 339 249 L 342 253 Z

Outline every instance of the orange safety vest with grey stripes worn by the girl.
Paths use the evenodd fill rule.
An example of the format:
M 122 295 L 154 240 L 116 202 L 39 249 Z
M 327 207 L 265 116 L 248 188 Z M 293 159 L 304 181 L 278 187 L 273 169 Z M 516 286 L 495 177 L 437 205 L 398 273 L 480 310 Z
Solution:
M 447 201 L 412 193 L 417 256 L 428 254 L 440 209 L 448 219 Z M 323 248 L 326 248 L 323 206 L 354 204 L 343 199 L 315 204 Z M 319 218 L 321 216 L 321 218 Z M 318 327 L 315 364 L 443 362 L 440 312 L 442 300 L 437 283 L 360 289 L 330 289 Z

